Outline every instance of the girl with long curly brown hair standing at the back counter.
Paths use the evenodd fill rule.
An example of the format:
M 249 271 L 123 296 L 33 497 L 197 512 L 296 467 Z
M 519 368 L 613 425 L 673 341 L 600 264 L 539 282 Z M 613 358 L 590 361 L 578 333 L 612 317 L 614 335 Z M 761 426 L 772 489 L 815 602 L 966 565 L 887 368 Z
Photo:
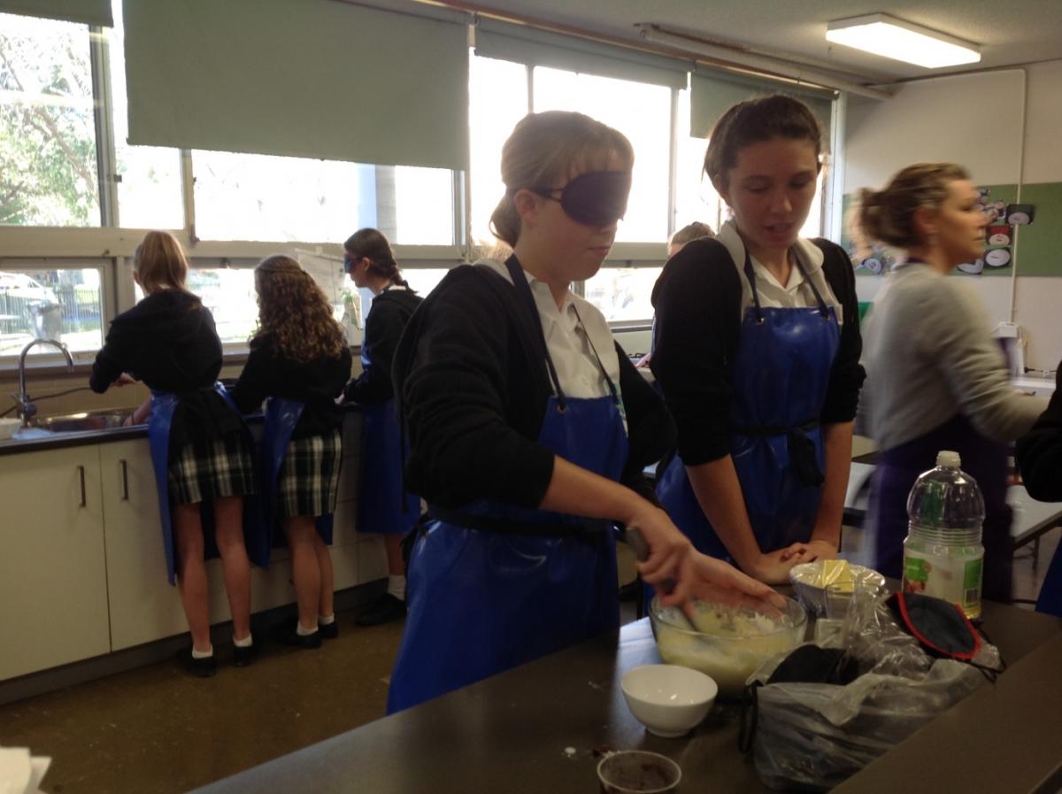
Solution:
M 255 269 L 258 332 L 233 399 L 250 413 L 270 399 L 260 456 L 264 510 L 291 549 L 298 622 L 281 639 L 320 648 L 338 634 L 332 611 L 331 525 L 343 460 L 343 413 L 336 398 L 350 376 L 350 350 L 331 306 L 298 262 L 263 259 Z

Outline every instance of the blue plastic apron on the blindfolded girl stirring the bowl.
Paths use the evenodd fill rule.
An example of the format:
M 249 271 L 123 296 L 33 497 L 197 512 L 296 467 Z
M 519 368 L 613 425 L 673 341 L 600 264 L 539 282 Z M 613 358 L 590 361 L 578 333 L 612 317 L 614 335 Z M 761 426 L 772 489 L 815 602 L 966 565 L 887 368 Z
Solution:
M 506 265 L 542 336 L 526 276 L 515 257 Z M 610 396 L 565 397 L 542 339 L 555 394 L 546 405 L 538 443 L 618 480 L 628 450 L 615 385 L 601 366 Z M 486 500 L 459 514 L 429 506 L 429 514 L 447 518 L 426 521 L 413 546 L 409 617 L 391 677 L 389 713 L 619 625 L 611 522 Z M 509 532 L 493 532 L 492 524 Z

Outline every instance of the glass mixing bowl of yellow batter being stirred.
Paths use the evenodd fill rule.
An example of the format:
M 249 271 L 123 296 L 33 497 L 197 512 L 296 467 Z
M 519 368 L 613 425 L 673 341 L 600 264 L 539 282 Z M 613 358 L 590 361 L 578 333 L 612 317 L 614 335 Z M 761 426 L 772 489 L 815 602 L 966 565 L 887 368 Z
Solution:
M 776 654 L 796 648 L 807 631 L 807 614 L 786 599 L 781 615 L 769 617 L 746 607 L 693 602 L 692 624 L 678 607 L 662 609 L 658 597 L 649 618 L 661 657 L 669 664 L 692 668 L 719 685 L 719 700 L 736 700 L 750 675 Z

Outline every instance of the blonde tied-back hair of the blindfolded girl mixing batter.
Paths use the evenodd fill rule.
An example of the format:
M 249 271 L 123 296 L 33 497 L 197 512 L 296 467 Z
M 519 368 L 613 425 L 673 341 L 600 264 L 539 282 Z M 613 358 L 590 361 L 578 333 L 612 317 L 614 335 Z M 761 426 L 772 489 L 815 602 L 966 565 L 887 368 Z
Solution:
M 618 130 L 581 113 L 547 110 L 528 114 L 517 122 L 501 149 L 501 180 L 506 194 L 491 214 L 494 236 L 516 245 L 520 215 L 513 195 L 521 188 L 552 187 L 579 165 L 587 171 L 606 170 L 612 155 L 624 168 L 634 167 L 634 148 Z

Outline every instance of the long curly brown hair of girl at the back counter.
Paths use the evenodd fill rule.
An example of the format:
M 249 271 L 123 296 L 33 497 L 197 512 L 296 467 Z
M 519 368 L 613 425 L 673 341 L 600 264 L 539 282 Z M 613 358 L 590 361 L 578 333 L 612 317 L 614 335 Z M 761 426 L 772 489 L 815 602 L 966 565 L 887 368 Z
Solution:
M 291 257 L 266 257 L 255 267 L 258 330 L 252 343 L 272 338 L 276 351 L 301 363 L 335 359 L 346 347 L 343 326 L 316 281 Z

